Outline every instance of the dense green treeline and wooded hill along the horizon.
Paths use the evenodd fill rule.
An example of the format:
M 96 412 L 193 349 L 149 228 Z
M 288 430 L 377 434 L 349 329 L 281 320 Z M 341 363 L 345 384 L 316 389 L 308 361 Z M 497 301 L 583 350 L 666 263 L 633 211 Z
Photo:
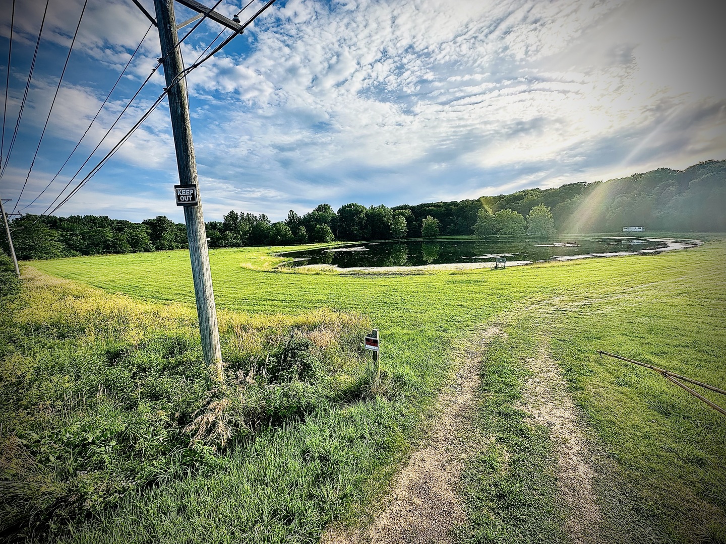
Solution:
M 647 231 L 724 232 L 725 210 L 726 160 L 710 160 L 686 170 L 659 168 L 610 181 L 526 189 L 476 200 L 394 207 L 351 203 L 337 212 L 321 204 L 302 216 L 290 210 L 287 219 L 277 223 L 264 214 L 230 211 L 223 221 L 210 221 L 206 228 L 210 247 L 439 234 L 523 235 L 528 230 L 547 234 L 552 229 L 559 234 L 619 232 L 623 226 L 645 226 Z M 539 231 L 534 227 L 538 221 L 544 225 Z M 12 227 L 17 228 L 13 239 L 20 259 L 173 250 L 187 242 L 184 224 L 163 215 L 131 223 L 96 215 L 28 214 L 13 220 Z M 2 243 L 7 250 L 7 241 Z

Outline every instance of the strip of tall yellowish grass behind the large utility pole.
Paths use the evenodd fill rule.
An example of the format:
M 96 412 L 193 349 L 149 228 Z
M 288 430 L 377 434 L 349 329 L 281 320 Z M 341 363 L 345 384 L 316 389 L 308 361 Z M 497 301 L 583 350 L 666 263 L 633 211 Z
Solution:
M 50 276 L 30 266 L 24 267 L 23 280 L 23 290 L 12 303 L 12 310 L 16 323 L 30 329 L 31 334 L 52 329 L 84 334 L 91 342 L 106 337 L 134 345 L 155 331 L 199 334 L 196 310 L 189 305 L 144 302 Z M 310 339 L 319 355 L 350 351 L 357 347 L 355 337 L 370 327 L 367 317 L 330 308 L 295 316 L 220 310 L 218 318 L 224 345 L 248 354 L 280 343 L 291 331 Z

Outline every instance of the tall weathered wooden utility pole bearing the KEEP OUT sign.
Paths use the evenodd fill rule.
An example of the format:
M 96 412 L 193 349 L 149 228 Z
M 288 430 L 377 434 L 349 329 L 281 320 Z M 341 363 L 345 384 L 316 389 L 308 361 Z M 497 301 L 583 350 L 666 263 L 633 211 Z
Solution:
M 197 162 L 192 142 L 192 126 L 189 123 L 187 81 L 185 78 L 179 78 L 183 68 L 181 65 L 181 51 L 177 46 L 179 36 L 176 34 L 174 0 L 154 0 L 154 7 L 159 28 L 164 77 L 168 88 L 171 130 L 174 133 L 179 183 L 181 185 L 196 186 L 197 188 L 197 205 L 184 206 L 184 221 L 187 223 L 189 258 L 192 260 L 192 278 L 194 279 L 194 294 L 197 300 L 202 350 L 205 362 L 208 366 L 216 368 L 217 379 L 221 382 L 224 379 L 224 368 L 222 367 L 222 353 L 219 346 L 219 326 L 217 325 L 217 310 L 214 305 L 212 275 L 209 269 L 207 234 L 197 184 Z M 177 81 L 177 78 L 179 78 L 179 81 Z

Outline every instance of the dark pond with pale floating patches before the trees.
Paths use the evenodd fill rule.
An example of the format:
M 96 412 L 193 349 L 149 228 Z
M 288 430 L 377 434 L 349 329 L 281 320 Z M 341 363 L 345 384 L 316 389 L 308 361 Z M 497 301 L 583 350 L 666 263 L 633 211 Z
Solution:
M 518 240 L 504 242 L 438 239 L 405 239 L 391 242 L 361 242 L 281 253 L 293 257 L 287 266 L 333 265 L 338 268 L 370 268 L 433 265 L 461 265 L 464 268 L 493 266 L 497 257 L 507 265 L 534 262 L 649 254 L 693 247 L 695 240 L 646 238 L 556 239 L 555 241 Z M 460 268 L 457 266 L 456 268 Z

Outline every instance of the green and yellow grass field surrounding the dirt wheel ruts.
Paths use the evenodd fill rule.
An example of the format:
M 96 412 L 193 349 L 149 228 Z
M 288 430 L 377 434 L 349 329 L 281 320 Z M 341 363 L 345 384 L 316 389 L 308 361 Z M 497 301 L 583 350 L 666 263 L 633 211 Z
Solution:
M 36 510 L 35 517 L 14 515 L 34 524 L 8 524 L 7 535 L 89 543 L 316 542 L 330 522 L 365 524 L 396 467 L 428 432 L 436 395 L 457 360 L 454 346 L 474 327 L 497 323 L 509 337 L 494 342 L 481 363 L 474 421 L 496 447 L 484 447 L 465 466 L 469 522 L 457 528 L 462 541 L 568 541 L 550 429 L 518 407 L 531 375 L 525 361 L 545 350 L 587 427 L 600 541 L 726 542 L 726 418 L 652 371 L 595 353 L 618 353 L 726 388 L 726 242 L 664 255 L 391 276 L 274 271 L 280 259 L 272 252 L 210 252 L 225 359 L 244 370 L 245 361 L 263 353 L 245 341 L 272 350 L 291 330 L 314 337 L 345 321 L 347 328 L 330 333 L 342 347 L 319 354 L 325 377 L 301 393 L 316 402 L 289 417 L 278 416 L 292 404 L 277 404 L 274 417 L 250 427 L 251 435 L 221 452 L 197 448 L 191 460 L 162 462 L 179 452 L 158 444 L 148 446 L 153 454 L 122 452 L 130 466 L 144 466 L 152 483 L 127 486 L 97 508 L 82 508 L 83 516 L 57 514 L 50 522 L 41 519 L 51 500 L 43 486 L 52 481 L 60 489 L 80 480 L 75 461 L 63 461 L 63 474 L 44 471 L 55 462 L 48 452 L 56 439 L 43 442 L 37 429 L 47 434 L 49 421 L 70 426 L 106 418 L 128 428 L 147 425 L 154 436 L 171 432 L 165 421 L 179 408 L 160 408 L 152 393 L 134 400 L 126 391 L 121 403 L 123 379 L 131 374 L 110 379 L 115 363 L 109 361 L 116 359 L 108 354 L 131 353 L 123 359 L 129 368 L 146 361 L 158 382 L 170 375 L 164 361 L 191 373 L 200 349 L 187 252 L 25 263 L 23 292 L 4 302 L 12 334 L 4 335 L 0 384 L 28 394 L 13 401 L 22 404 L 20 416 L 4 416 L 4 429 L 11 430 L 3 431 L 1 468 L 7 470 L 7 458 L 19 458 L 7 453 L 7 444 L 23 426 L 42 435 L 26 442 L 46 449 L 36 444 L 28 453 L 38 467 L 35 487 L 16 493 Z M 54 300 L 65 302 L 54 306 Z M 367 326 L 378 328 L 382 339 L 386 382 L 378 395 L 359 395 L 362 355 L 345 346 Z M 168 337 L 182 347 L 169 348 Z M 85 381 L 73 374 L 79 353 L 89 368 Z M 205 380 L 200 374 L 189 385 L 192 397 L 177 382 L 168 387 L 179 405 L 198 407 L 212 387 Z M 96 419 L 86 396 L 85 408 L 73 408 L 63 387 L 76 397 L 98 390 L 105 404 L 94 405 Z M 707 396 L 723 404 L 718 395 Z M 142 397 L 151 415 L 139 408 Z M 18 411 L 4 402 L 6 411 Z M 123 419 L 130 411 L 131 423 Z M 93 444 L 108 447 L 100 439 Z M 107 461 L 98 456 L 97 474 L 118 461 L 111 453 Z M 91 484 L 92 493 L 87 486 L 73 493 L 105 496 L 104 482 Z M 73 495 L 69 489 L 58 496 Z

